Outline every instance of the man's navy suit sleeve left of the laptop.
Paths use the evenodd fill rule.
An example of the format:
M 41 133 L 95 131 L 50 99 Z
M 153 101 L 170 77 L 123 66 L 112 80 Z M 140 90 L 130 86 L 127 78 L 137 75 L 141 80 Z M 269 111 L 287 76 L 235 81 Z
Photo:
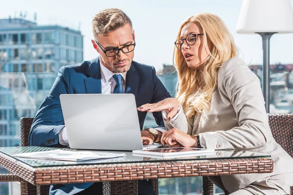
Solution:
M 62 67 L 32 123 L 29 134 L 31 146 L 62 146 L 58 135 L 65 125 L 59 96 L 69 93 L 68 78 L 67 69 Z

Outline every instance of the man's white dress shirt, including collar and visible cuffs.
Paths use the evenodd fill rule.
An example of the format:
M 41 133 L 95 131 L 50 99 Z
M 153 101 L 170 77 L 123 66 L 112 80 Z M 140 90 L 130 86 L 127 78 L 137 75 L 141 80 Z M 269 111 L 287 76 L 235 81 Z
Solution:
M 108 70 L 104 65 L 100 63 L 101 67 L 101 84 L 102 84 L 102 94 L 113 94 L 116 81 L 113 78 L 114 73 L 112 73 L 110 70 Z M 122 81 L 122 87 L 123 92 L 125 93 L 126 88 L 126 73 L 120 73 L 120 75 L 123 78 Z M 156 127 L 155 128 L 158 131 L 165 132 L 166 129 L 164 127 Z M 66 132 L 66 127 L 63 127 L 63 129 L 59 132 L 59 143 L 62 145 L 68 145 L 68 137 Z

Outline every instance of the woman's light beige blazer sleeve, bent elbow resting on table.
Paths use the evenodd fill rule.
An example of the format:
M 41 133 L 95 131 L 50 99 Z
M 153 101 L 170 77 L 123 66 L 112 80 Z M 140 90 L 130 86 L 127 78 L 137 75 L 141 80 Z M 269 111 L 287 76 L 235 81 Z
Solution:
M 244 62 L 231 60 L 228 63 L 219 70 L 222 73 L 218 74 L 218 89 L 230 99 L 238 126 L 228 131 L 201 133 L 201 145 L 208 149 L 263 147 L 270 136 L 270 128 L 259 79 Z

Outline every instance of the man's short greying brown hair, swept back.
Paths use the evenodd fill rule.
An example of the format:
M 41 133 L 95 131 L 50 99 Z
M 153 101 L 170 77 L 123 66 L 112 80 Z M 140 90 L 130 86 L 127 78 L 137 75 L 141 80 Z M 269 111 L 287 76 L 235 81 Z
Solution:
M 92 36 L 105 35 L 118 28 L 129 24 L 132 29 L 132 22 L 129 17 L 120 9 L 104 9 L 94 16 L 92 21 Z

